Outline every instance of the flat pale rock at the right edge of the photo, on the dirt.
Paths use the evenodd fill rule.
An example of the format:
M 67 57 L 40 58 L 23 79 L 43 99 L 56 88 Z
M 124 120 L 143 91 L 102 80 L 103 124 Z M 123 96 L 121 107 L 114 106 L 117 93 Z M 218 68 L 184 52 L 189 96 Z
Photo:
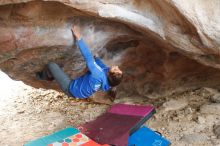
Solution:
M 200 112 L 203 114 L 220 115 L 220 104 L 212 103 L 212 104 L 203 105 L 200 107 Z

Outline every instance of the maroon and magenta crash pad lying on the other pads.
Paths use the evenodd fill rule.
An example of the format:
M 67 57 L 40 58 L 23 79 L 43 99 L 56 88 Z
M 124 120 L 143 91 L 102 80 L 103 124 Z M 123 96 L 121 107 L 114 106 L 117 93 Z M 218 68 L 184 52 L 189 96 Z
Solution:
M 129 135 L 154 113 L 153 106 L 115 104 L 96 120 L 82 125 L 81 131 L 100 144 L 127 146 Z

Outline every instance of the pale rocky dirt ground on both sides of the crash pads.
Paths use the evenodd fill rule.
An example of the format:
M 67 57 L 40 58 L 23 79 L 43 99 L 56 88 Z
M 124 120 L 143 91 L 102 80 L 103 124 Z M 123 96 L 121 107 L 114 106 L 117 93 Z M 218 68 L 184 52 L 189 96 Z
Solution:
M 104 113 L 109 105 L 68 98 L 54 90 L 35 89 L 0 73 L 0 145 L 20 146 Z M 159 99 L 120 97 L 115 103 L 156 107 L 146 123 L 172 146 L 220 146 L 220 94 L 201 88 Z M 218 129 L 218 130 L 216 130 Z

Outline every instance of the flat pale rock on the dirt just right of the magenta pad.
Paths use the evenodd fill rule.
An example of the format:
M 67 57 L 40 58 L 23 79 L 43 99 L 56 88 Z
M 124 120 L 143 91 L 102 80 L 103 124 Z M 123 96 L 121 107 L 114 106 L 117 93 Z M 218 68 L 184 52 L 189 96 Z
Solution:
M 183 109 L 188 105 L 188 102 L 185 100 L 170 100 L 163 104 L 165 111 L 173 111 Z

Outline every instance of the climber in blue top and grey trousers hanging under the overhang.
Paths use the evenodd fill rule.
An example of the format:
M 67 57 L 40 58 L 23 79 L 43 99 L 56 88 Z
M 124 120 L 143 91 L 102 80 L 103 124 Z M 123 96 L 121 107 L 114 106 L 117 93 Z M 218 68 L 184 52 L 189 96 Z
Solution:
M 86 61 L 88 71 L 76 78 L 70 79 L 56 63 L 49 63 L 43 71 L 36 75 L 40 79 L 55 79 L 62 91 L 68 96 L 75 98 L 89 98 L 96 91 L 102 90 L 109 93 L 109 98 L 114 101 L 116 97 L 116 86 L 120 84 L 123 73 L 118 66 L 107 67 L 99 57 L 92 56 L 90 50 L 81 38 L 76 27 L 72 27 L 73 38 Z

